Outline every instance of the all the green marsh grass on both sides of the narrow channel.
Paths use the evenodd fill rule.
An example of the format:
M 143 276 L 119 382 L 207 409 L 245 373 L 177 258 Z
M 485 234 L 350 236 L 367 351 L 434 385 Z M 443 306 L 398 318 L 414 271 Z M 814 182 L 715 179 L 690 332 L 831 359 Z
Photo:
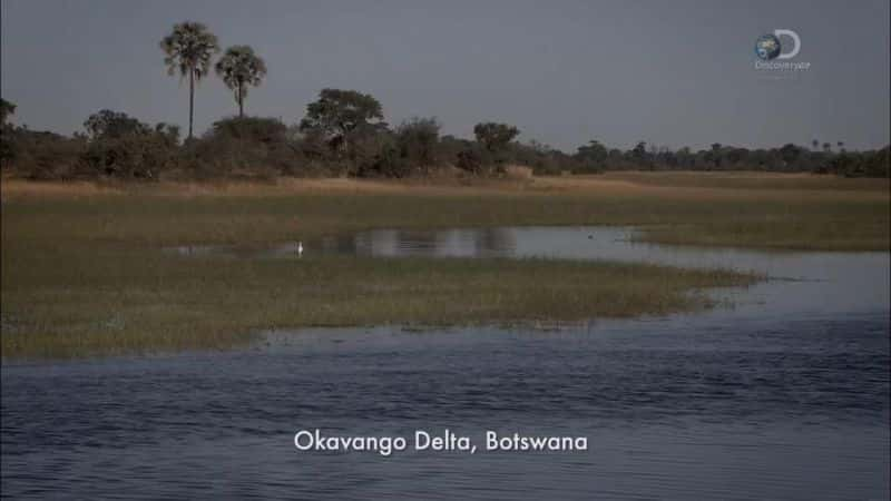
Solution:
M 595 181 L 597 183 L 597 181 Z M 577 321 L 707 306 L 722 271 L 544 259 L 182 257 L 164 245 L 371 227 L 643 225 L 693 245 L 884 250 L 888 195 L 676 186 L 168 189 L 3 194 L 2 356 L 229 347 L 276 327 Z M 648 183 L 653 183 L 649 180 Z M 709 183 L 714 183 L 713 180 Z

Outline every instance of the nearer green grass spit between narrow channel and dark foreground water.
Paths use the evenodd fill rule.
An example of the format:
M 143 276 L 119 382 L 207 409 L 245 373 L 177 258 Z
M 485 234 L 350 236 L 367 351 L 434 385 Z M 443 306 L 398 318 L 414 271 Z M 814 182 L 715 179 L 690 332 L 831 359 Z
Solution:
M 252 261 L 87 247 L 31 252 L 27 262 L 4 269 L 9 358 L 228 347 L 276 327 L 665 314 L 707 306 L 689 291 L 754 279 L 541 259 Z

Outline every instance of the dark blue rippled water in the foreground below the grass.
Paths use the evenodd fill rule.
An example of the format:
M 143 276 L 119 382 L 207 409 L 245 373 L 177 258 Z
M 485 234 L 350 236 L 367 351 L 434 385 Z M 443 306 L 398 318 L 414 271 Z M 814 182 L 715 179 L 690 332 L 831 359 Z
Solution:
M 511 232 L 499 248 L 528 255 Z M 581 237 L 600 254 L 572 257 L 625 245 L 608 257 L 675 264 L 698 252 L 585 232 L 537 245 Z M 685 264 L 800 281 L 719 292 L 733 308 L 555 332 L 310 330 L 241 352 L 6 364 L 2 494 L 888 499 L 888 254 L 699 253 Z M 487 430 L 574 435 L 588 450 L 297 451 L 294 433 L 315 428 L 448 428 L 480 449 Z

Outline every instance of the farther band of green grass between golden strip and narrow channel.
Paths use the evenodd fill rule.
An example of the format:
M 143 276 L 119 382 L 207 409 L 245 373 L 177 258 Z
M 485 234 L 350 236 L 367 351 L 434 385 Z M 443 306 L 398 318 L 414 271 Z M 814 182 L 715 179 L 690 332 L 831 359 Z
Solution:
M 760 248 L 887 250 L 884 194 L 635 193 L 110 195 L 6 204 L 3 238 L 31 242 L 272 243 L 372 227 L 638 225 L 645 239 Z M 721 191 L 727 191 L 722 195 Z

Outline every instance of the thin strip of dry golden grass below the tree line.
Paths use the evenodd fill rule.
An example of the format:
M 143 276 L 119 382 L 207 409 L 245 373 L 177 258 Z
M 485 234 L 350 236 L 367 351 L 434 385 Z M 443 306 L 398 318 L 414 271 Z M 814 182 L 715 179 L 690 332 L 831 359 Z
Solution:
M 398 180 L 353 178 L 278 178 L 268 183 L 215 180 L 204 183 L 33 183 L 6 178 L 0 197 L 85 197 L 96 195 L 262 196 L 288 194 L 422 194 L 497 195 L 517 191 L 571 191 L 605 196 L 653 196 L 686 199 L 752 199 L 829 197 L 887 200 L 888 179 L 846 179 L 811 174 L 751 171 L 616 171 L 585 176 L 533 176 L 529 167 L 508 166 L 505 179 L 432 177 Z M 517 183 L 522 181 L 522 183 Z

